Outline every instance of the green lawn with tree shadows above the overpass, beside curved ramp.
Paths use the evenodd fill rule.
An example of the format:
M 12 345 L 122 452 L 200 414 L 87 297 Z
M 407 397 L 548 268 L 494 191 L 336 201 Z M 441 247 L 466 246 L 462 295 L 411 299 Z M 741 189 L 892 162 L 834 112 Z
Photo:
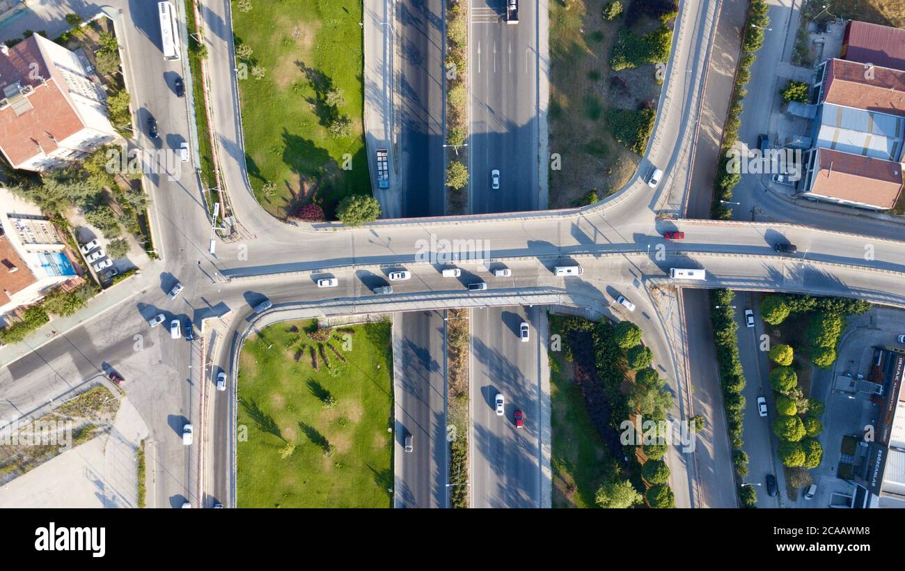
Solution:
M 233 6 L 235 43 L 253 50 L 248 70 L 266 70 L 263 79 L 249 72 L 239 81 L 252 188 L 271 214 L 284 217 L 300 204 L 322 200 L 333 217 L 343 197 L 370 194 L 362 127 L 361 0 L 281 0 L 279 10 L 252 6 L 249 12 Z M 344 99 L 336 111 L 326 101 L 335 89 Z M 329 134 L 336 112 L 351 120 L 348 137 Z M 264 195 L 268 181 L 276 190 Z

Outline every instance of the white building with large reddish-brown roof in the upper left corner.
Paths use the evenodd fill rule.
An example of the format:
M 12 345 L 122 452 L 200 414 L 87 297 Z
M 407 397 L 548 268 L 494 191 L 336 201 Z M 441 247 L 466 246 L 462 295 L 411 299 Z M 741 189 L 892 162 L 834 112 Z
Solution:
M 0 90 L 0 151 L 14 168 L 62 167 L 120 139 L 79 57 L 36 33 L 0 46 Z

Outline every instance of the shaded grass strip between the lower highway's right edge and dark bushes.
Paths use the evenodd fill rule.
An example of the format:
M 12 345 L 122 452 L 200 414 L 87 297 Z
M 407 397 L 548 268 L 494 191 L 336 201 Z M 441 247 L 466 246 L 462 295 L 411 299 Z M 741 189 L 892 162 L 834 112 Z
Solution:
M 595 492 L 605 481 L 606 446 L 587 416 L 585 397 L 572 382 L 572 364 L 549 353 L 550 419 L 553 433 L 554 508 L 595 508 Z

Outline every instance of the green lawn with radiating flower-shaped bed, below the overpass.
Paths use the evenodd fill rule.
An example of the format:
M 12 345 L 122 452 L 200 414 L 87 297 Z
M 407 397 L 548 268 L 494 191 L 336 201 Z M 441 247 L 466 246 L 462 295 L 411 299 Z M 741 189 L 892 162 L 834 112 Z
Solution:
M 238 506 L 391 507 L 392 370 L 389 323 L 325 332 L 292 321 L 250 338 L 239 367 L 248 438 L 238 443 Z

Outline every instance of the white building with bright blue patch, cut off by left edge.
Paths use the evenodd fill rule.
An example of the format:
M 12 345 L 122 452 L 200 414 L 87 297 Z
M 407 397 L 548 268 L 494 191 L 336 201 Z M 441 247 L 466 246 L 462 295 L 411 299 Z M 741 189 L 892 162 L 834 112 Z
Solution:
M 0 316 L 75 276 L 53 224 L 35 205 L 0 189 Z

